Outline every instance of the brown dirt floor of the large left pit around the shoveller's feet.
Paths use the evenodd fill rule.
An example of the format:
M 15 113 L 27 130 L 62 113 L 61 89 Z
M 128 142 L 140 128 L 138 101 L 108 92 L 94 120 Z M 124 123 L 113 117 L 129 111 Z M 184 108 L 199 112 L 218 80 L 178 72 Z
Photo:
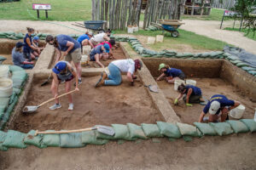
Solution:
M 132 122 L 155 123 L 161 116 L 154 108 L 147 90 L 141 82 L 131 87 L 123 77 L 123 83 L 117 87 L 94 88 L 100 77 L 83 77 L 80 91 L 73 94 L 74 110 L 68 111 L 67 97 L 60 99 L 61 109 L 50 111 L 54 102 L 43 105 L 38 111 L 30 114 L 20 113 L 15 117 L 11 129 L 27 133 L 31 129 L 78 129 L 92 127 L 96 124 L 125 124 Z M 28 94 L 26 105 L 38 105 L 53 96 L 50 84 L 41 87 L 44 80 L 34 81 Z M 60 85 L 59 94 L 64 94 L 64 84 Z

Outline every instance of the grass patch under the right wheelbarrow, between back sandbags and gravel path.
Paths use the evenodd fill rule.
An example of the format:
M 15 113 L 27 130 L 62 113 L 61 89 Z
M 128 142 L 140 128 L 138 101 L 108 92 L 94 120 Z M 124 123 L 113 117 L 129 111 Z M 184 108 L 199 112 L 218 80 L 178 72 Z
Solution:
M 164 34 L 164 42 L 157 42 L 154 45 L 149 45 L 149 48 L 154 50 L 162 50 L 166 48 L 184 48 L 182 45 L 189 45 L 194 49 L 206 49 L 206 50 L 223 50 L 224 46 L 228 43 L 214 40 L 209 37 L 195 34 L 194 32 L 184 31 L 178 29 L 179 37 L 172 37 L 171 33 L 166 32 Z M 114 31 L 116 34 L 126 34 L 126 31 Z M 162 31 L 137 31 L 133 33 L 136 36 L 150 36 L 155 37 L 161 35 Z

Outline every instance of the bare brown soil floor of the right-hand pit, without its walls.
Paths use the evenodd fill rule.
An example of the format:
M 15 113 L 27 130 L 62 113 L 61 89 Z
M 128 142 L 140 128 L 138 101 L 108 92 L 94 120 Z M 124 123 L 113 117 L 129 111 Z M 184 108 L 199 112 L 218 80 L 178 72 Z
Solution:
M 242 94 L 239 89 L 232 86 L 229 82 L 225 82 L 220 78 L 192 78 L 196 81 L 196 86 L 201 88 L 202 94 L 207 99 L 210 99 L 214 94 L 224 94 L 228 99 L 234 99 L 245 105 L 246 111 L 243 118 L 253 118 L 254 108 L 256 103 L 248 98 L 245 94 Z M 183 99 L 178 102 L 178 105 L 173 105 L 174 99 L 177 98 L 178 93 L 174 90 L 174 85 L 167 83 L 166 81 L 158 82 L 159 87 L 166 95 L 166 99 L 169 100 L 172 108 L 177 113 L 177 116 L 181 118 L 182 122 L 192 124 L 198 122 L 201 111 L 204 105 L 193 104 L 193 107 L 188 107 L 183 102 Z M 230 117 L 230 119 L 232 119 Z

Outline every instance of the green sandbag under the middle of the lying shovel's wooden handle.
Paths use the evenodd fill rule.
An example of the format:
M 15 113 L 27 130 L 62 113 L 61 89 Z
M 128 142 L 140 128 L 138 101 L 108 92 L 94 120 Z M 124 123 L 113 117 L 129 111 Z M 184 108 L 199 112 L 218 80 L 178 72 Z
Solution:
M 63 133 L 60 134 L 61 148 L 81 148 L 85 146 L 82 142 L 82 133 Z

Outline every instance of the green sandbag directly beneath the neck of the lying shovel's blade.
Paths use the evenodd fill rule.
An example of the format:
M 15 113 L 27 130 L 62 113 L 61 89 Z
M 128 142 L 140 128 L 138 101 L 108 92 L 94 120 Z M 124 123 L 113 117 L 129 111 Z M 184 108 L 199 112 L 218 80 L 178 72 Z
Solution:
M 97 139 L 96 131 L 87 131 L 87 132 L 82 132 L 82 143 L 102 145 L 102 144 L 107 144 L 108 139 Z

